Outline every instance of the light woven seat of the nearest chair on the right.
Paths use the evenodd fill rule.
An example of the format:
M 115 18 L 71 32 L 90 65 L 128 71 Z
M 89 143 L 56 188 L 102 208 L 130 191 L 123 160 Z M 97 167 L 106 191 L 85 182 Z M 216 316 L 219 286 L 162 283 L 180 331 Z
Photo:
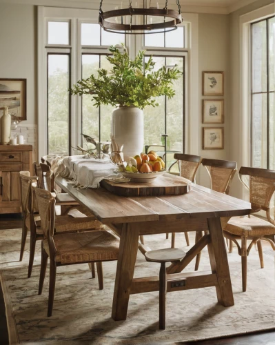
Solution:
M 275 234 L 275 226 L 253 215 L 250 215 L 250 217 L 232 217 L 224 230 L 239 236 L 265 236 Z

